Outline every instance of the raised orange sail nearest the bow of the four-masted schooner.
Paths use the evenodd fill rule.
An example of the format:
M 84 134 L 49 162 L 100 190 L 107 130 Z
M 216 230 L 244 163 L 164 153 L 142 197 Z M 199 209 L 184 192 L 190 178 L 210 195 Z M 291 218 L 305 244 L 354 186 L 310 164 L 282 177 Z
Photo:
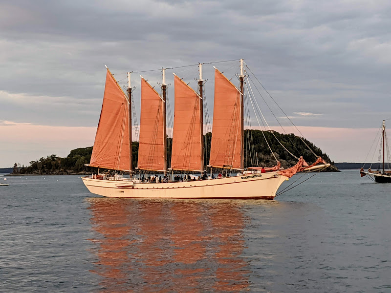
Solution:
M 239 89 L 216 69 L 211 167 L 241 169 L 240 95 Z

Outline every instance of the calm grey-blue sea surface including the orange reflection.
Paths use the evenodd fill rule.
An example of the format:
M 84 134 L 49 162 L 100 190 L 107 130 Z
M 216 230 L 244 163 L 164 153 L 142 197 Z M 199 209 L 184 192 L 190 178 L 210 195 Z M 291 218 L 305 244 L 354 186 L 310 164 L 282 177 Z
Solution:
M 391 292 L 391 184 L 358 170 L 275 201 L 110 199 L 79 176 L 5 177 L 0 292 Z

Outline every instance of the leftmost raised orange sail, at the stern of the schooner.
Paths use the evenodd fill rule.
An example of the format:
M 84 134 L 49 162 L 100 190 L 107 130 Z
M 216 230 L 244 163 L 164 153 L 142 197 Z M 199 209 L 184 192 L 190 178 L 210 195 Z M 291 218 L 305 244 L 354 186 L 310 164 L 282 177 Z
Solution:
M 98 129 L 88 166 L 130 171 L 129 104 L 109 69 Z

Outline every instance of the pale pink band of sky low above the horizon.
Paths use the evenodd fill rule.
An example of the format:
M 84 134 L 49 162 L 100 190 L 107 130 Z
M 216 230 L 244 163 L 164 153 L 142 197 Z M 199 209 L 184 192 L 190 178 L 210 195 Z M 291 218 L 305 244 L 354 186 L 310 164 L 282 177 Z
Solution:
M 320 147 L 335 162 L 363 162 L 378 131 L 376 128 L 298 128 L 307 140 Z M 272 129 L 282 131 L 277 127 Z M 294 127 L 284 127 L 284 130 L 300 135 Z M 11 167 L 15 162 L 28 165 L 30 161 L 50 154 L 65 157 L 71 149 L 92 146 L 95 132 L 96 127 L 43 126 L 2 121 L 0 167 Z

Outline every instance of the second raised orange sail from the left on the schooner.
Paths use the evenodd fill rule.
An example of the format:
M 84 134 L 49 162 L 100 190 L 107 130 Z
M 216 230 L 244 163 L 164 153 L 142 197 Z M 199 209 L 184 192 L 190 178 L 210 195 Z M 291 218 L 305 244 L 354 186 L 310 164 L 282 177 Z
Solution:
M 165 171 L 165 149 L 163 135 L 163 99 L 141 78 L 140 141 L 137 167 L 143 170 Z

